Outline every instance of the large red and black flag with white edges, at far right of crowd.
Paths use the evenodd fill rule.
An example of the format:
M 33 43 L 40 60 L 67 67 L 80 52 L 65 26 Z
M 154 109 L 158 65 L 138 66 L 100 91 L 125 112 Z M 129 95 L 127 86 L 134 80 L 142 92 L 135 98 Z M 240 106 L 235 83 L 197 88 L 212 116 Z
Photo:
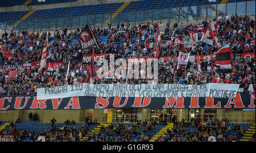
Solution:
M 229 44 L 222 47 L 217 53 L 216 53 L 216 65 L 220 65 L 224 68 L 231 68 L 231 58 L 230 58 L 230 47 Z

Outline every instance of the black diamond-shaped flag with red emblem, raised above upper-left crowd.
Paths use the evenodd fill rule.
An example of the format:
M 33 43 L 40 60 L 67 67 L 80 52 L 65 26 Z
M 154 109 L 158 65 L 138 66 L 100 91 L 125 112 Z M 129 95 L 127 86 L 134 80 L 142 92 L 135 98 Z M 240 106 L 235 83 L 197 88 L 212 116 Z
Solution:
M 83 49 L 93 47 L 95 45 L 98 49 L 100 49 L 100 45 L 98 44 L 97 39 L 94 36 L 93 31 L 88 23 L 81 30 L 80 34 L 77 35 L 77 39 L 79 39 Z

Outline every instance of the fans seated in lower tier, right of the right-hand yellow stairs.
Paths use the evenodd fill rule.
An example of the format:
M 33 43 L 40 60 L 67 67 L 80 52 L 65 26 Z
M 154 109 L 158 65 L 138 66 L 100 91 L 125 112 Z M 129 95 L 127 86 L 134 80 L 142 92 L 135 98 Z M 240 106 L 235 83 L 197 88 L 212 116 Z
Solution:
M 196 131 L 185 131 L 184 127 L 196 127 Z M 236 135 L 228 134 L 231 130 L 237 130 Z M 181 122 L 174 122 L 174 128 L 167 129 L 157 141 L 159 142 L 233 142 L 238 141 L 243 137 L 245 130 L 238 125 L 229 126 L 227 119 L 213 121 L 209 119 L 208 122 L 201 121 L 201 119 L 182 119 Z

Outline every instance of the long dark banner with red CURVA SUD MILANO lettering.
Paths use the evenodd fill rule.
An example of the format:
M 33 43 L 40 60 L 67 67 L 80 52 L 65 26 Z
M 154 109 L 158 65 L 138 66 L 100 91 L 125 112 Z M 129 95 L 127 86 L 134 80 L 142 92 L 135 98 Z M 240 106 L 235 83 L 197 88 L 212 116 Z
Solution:
M 230 109 L 255 108 L 255 92 L 237 93 L 236 98 L 213 97 L 70 97 L 37 100 L 36 96 L 1 96 L 0 110 L 25 109 L 110 109 L 110 108 L 156 108 L 156 109 Z

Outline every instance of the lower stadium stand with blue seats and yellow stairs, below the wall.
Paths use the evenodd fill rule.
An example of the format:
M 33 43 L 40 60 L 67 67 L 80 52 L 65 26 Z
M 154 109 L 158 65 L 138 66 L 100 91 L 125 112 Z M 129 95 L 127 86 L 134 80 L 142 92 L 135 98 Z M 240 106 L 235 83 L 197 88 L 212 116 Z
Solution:
M 6 122 L 6 121 L 5 121 Z M 21 121 L 14 123 L 11 127 L 7 125 L 5 130 L 0 132 L 0 137 L 11 135 L 15 141 L 36 142 L 40 141 L 89 141 L 89 142 L 148 142 L 148 141 L 166 141 L 166 142 L 208 142 L 211 135 L 217 142 L 251 141 L 255 140 L 255 124 L 252 123 L 222 123 L 218 120 L 209 122 L 187 122 L 183 119 L 181 122 L 171 123 L 172 127 L 162 125 L 154 121 L 142 123 L 97 123 L 97 125 L 88 125 L 86 123 L 75 123 L 74 125 L 65 125 L 65 123 L 39 123 L 38 121 Z M 4 123 L 4 122 L 3 122 Z M 254 129 L 248 135 L 248 127 Z M 158 131 L 167 128 L 163 134 Z M 52 134 L 60 134 L 60 137 Z M 254 134 L 254 135 L 253 135 Z M 245 137 L 244 137 L 245 136 Z M 210 138 L 209 138 L 210 137 Z M 151 139 L 152 138 L 152 139 Z M 252 138 L 252 139 L 251 139 Z

